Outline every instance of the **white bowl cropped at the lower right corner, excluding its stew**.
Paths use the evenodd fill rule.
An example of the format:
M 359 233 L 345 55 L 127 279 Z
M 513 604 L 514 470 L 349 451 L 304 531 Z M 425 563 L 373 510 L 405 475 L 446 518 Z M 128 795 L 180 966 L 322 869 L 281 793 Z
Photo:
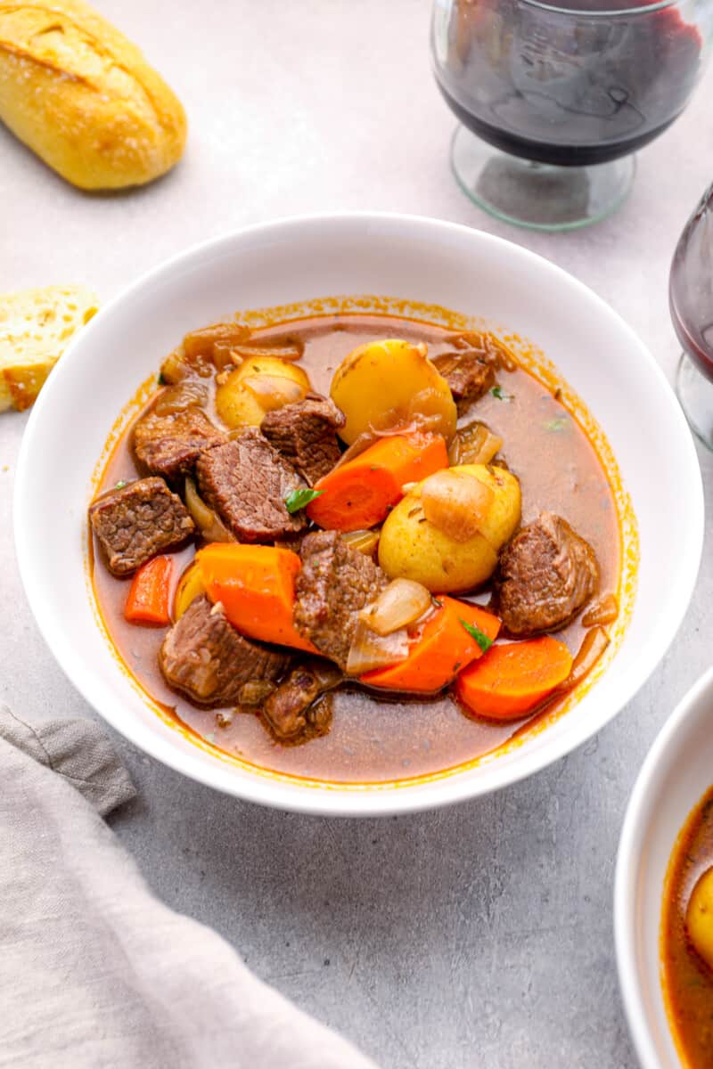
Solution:
M 621 831 L 614 896 L 619 985 L 642 1069 L 680 1069 L 661 986 L 666 869 L 679 832 L 713 785 L 713 668 L 649 750 Z

